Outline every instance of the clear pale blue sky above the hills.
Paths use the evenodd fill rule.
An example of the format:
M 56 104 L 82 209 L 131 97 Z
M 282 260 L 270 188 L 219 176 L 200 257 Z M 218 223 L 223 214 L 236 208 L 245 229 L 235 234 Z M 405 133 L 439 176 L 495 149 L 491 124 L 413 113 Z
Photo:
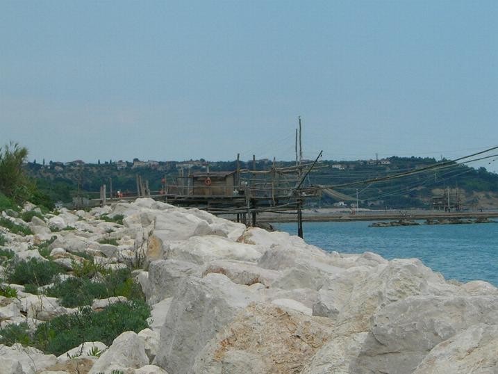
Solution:
M 465 156 L 498 145 L 497 19 L 495 0 L 1 0 L 0 145 L 292 160 L 301 116 L 305 158 Z

